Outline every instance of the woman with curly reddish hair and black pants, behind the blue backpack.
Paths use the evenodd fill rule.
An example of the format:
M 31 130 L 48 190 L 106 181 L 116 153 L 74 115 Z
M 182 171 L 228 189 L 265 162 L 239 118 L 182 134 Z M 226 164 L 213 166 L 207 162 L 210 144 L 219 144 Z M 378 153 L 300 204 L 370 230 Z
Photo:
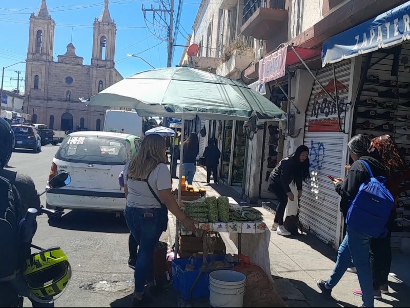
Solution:
M 406 170 L 406 165 L 400 157 L 397 145 L 390 136 L 383 135 L 376 137 L 372 140 L 372 144 L 376 148 L 384 166 L 388 169 L 386 187 L 397 201 L 401 192 L 410 189 L 408 184 L 400 185 L 403 180 L 410 178 L 410 172 Z M 387 278 L 392 264 L 392 247 L 390 240 L 391 232 L 395 225 L 395 216 L 396 207 L 393 208 L 386 224 L 388 230 L 387 236 L 372 238 L 370 240 L 370 267 L 373 275 L 375 299 L 382 298 L 382 293 L 388 293 Z M 358 296 L 362 295 L 360 289 L 353 290 L 353 293 Z

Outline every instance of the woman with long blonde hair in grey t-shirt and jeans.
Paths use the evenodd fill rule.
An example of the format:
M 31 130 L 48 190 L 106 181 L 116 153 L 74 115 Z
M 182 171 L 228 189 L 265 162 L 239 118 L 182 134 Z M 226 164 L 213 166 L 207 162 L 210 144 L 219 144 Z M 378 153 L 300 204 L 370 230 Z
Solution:
M 145 303 L 146 282 L 151 290 L 155 290 L 152 255 L 162 232 L 167 230 L 168 209 L 187 230 L 195 229 L 195 221 L 182 213 L 172 195 L 165 151 L 165 139 L 158 134 L 150 134 L 142 141 L 135 158 L 124 168 L 125 218 L 139 245 L 133 306 Z

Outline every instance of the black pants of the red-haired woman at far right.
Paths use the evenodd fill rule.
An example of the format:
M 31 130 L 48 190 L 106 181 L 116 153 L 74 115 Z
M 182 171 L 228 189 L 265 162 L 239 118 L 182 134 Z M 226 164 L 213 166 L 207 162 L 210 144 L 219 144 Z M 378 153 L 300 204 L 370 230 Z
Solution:
M 387 284 L 388 273 L 392 264 L 391 233 L 384 238 L 373 238 L 370 241 L 370 266 L 373 274 L 373 288 Z

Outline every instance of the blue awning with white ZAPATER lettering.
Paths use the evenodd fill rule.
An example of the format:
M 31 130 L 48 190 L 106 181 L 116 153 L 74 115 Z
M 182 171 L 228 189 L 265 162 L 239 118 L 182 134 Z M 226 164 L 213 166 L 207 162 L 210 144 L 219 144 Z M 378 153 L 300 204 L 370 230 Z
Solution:
M 410 2 L 332 36 L 322 46 L 322 66 L 398 45 L 410 39 Z

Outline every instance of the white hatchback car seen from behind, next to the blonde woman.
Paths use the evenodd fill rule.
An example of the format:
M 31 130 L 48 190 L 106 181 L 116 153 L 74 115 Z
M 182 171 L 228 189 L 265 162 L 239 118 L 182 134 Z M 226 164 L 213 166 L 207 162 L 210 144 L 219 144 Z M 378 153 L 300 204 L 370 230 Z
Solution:
M 53 158 L 49 180 L 59 172 L 68 172 L 71 183 L 47 192 L 47 208 L 122 213 L 126 200 L 118 176 L 135 157 L 141 142 L 139 137 L 115 132 L 68 134 Z

